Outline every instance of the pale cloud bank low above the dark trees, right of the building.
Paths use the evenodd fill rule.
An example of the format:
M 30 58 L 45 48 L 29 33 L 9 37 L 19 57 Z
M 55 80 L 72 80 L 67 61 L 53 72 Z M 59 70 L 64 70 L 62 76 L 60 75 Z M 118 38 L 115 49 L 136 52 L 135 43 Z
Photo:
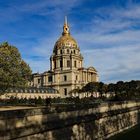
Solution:
M 100 80 L 116 82 L 117 80 L 139 79 L 140 76 L 140 46 L 119 46 L 117 48 L 104 48 L 86 50 L 83 52 L 86 66 L 97 68 Z M 90 61 L 89 61 L 90 60 Z M 115 76 L 115 79 L 114 79 Z

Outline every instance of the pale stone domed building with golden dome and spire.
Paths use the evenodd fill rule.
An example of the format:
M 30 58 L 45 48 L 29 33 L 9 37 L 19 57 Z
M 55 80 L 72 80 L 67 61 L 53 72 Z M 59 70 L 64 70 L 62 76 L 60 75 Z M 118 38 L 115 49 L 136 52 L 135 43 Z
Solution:
M 69 92 L 82 88 L 88 82 L 99 80 L 94 67 L 83 67 L 83 56 L 76 40 L 71 36 L 65 18 L 62 36 L 56 41 L 50 57 L 50 70 L 33 75 L 34 87 L 52 87 L 62 98 L 69 97 Z

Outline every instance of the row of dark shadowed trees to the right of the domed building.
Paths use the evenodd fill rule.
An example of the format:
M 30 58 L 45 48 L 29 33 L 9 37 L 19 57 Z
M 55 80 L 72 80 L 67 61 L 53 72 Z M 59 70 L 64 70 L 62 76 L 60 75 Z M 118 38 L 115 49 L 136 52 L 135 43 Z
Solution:
M 106 94 L 110 94 L 110 100 L 122 101 L 131 99 L 140 99 L 140 81 L 123 82 L 104 84 L 103 82 L 90 82 L 86 84 L 82 89 L 73 89 L 71 93 L 99 93 L 99 98 L 106 99 Z M 96 99 L 97 100 L 97 99 Z

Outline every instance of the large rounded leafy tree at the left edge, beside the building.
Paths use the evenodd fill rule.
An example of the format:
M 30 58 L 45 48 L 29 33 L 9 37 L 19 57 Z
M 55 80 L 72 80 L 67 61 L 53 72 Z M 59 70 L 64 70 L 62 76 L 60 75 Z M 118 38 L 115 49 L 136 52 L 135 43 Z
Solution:
M 0 93 L 8 88 L 27 86 L 30 77 L 31 69 L 18 49 L 7 42 L 0 44 Z

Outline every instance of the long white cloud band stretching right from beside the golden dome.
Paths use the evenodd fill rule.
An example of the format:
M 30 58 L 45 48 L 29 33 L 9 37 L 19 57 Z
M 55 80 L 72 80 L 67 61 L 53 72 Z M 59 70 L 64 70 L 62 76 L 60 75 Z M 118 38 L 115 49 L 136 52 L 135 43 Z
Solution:
M 137 43 L 140 42 L 139 36 L 140 30 L 127 30 L 108 34 L 95 34 L 94 32 L 76 34 L 76 38 L 79 42 L 106 44 L 109 46 L 120 45 L 120 43 Z

